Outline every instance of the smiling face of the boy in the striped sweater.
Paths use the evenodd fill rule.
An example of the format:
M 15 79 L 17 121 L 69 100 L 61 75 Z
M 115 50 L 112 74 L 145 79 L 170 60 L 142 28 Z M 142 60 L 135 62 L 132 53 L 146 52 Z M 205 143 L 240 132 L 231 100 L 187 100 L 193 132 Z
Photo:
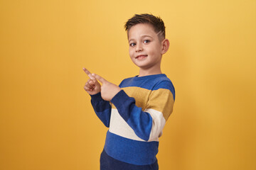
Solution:
M 139 23 L 129 29 L 129 56 L 141 69 L 158 69 L 161 64 L 162 45 L 149 23 Z

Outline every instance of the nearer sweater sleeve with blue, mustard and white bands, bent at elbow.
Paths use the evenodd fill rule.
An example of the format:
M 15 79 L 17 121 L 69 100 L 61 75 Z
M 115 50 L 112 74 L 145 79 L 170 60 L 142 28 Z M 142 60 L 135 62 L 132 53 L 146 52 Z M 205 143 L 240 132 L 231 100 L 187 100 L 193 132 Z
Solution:
M 155 86 L 144 111 L 135 105 L 135 99 L 129 97 L 124 90 L 112 98 L 111 102 L 119 114 L 142 140 L 156 140 L 161 136 L 174 106 L 174 94 L 169 86 L 172 84 L 168 81 Z

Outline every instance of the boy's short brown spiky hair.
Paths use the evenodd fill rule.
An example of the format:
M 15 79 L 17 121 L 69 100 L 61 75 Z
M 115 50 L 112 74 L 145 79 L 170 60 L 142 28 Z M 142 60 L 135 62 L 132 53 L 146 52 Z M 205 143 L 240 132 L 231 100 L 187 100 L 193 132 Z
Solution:
M 164 21 L 160 17 L 156 17 L 148 13 L 135 14 L 124 24 L 127 34 L 129 33 L 129 29 L 138 23 L 149 23 L 151 26 L 153 26 L 155 33 L 159 35 L 159 39 L 165 38 Z

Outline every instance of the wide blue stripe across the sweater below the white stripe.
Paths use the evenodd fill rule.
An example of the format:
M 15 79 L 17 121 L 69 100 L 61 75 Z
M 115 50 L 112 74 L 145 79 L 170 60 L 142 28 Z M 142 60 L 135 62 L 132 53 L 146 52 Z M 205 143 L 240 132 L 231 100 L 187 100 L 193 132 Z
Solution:
M 106 153 L 121 162 L 136 165 L 154 164 L 159 142 L 142 142 L 129 140 L 107 131 Z

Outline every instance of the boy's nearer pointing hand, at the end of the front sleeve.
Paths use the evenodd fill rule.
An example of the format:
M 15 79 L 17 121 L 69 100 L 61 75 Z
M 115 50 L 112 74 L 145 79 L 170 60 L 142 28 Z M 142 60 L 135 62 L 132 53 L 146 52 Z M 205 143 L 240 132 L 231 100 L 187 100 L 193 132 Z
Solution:
M 103 79 L 97 74 L 92 74 L 92 77 L 95 77 L 102 83 L 101 86 L 101 96 L 105 101 L 111 101 L 111 99 L 122 89 L 119 86 L 110 83 L 109 81 Z

